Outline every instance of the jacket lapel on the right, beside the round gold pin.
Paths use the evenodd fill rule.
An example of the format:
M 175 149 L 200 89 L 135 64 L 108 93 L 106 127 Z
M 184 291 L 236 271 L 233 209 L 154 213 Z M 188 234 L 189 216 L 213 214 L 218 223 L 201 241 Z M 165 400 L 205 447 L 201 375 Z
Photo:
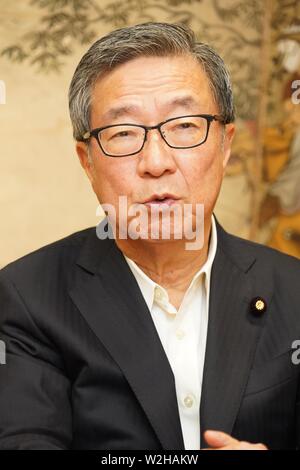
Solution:
M 269 305 L 272 291 L 270 283 L 256 286 L 255 258 L 247 245 L 217 226 L 200 406 L 201 447 L 206 447 L 205 430 L 232 433 L 267 316 L 254 316 L 250 302 L 261 295 Z

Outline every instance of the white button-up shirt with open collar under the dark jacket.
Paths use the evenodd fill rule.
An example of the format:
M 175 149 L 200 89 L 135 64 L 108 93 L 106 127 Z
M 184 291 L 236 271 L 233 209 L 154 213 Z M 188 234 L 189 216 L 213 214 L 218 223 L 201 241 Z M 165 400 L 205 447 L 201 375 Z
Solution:
M 210 276 L 217 249 L 214 217 L 207 260 L 177 310 L 166 289 L 124 255 L 151 313 L 172 368 L 185 449 L 200 449 L 200 399 L 206 348 Z

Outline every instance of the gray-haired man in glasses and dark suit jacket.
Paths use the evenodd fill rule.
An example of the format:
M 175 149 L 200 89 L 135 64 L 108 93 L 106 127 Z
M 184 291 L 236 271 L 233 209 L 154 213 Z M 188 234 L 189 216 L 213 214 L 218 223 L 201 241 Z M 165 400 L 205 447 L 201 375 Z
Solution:
M 1 272 L 0 447 L 296 448 L 299 261 L 212 215 L 234 134 L 223 61 L 186 27 L 124 28 L 69 98 L 108 218 Z

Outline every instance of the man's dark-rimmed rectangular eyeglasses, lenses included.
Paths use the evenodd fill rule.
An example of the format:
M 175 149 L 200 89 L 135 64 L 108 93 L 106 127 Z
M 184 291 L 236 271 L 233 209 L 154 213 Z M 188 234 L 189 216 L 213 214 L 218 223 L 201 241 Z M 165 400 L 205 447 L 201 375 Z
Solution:
M 191 114 L 167 119 L 156 126 L 125 123 L 98 127 L 86 132 L 82 140 L 85 142 L 95 137 L 102 152 L 108 157 L 129 157 L 142 150 L 150 130 L 158 129 L 169 147 L 188 149 L 206 142 L 212 121 L 225 124 L 222 116 Z

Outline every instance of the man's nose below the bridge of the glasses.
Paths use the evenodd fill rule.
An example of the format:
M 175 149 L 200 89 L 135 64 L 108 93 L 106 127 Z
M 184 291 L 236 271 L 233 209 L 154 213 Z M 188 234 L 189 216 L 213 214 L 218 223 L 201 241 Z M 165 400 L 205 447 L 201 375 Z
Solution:
M 173 149 L 164 142 L 158 129 L 148 131 L 146 142 L 138 157 L 139 175 L 159 177 L 164 173 L 175 173 L 176 169 Z

